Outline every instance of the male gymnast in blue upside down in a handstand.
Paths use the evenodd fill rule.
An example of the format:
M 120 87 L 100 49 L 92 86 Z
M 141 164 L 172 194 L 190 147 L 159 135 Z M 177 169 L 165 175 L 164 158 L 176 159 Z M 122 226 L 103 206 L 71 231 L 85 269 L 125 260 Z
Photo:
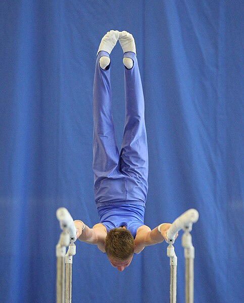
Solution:
M 125 66 L 125 125 L 119 153 L 111 108 L 110 54 L 119 40 Z M 148 144 L 144 97 L 133 36 L 126 31 L 108 32 L 96 57 L 93 85 L 94 196 L 99 223 L 92 228 L 75 220 L 77 238 L 96 244 L 111 265 L 123 271 L 134 253 L 167 239 L 171 226 L 144 225 L 148 193 Z

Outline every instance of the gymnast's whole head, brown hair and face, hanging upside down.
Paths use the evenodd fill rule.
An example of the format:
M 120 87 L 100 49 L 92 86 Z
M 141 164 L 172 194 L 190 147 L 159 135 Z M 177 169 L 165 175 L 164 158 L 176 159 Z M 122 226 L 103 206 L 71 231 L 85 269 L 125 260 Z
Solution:
M 131 232 L 121 227 L 111 229 L 105 239 L 105 250 L 111 265 L 123 271 L 130 265 L 135 251 Z

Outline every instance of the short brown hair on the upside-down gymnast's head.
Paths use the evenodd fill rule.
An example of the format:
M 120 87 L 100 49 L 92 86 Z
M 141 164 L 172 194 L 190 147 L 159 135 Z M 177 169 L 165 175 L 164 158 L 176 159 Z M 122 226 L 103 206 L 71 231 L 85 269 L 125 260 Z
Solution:
M 135 242 L 130 231 L 124 228 L 111 229 L 105 239 L 105 251 L 108 257 L 126 260 L 134 254 Z

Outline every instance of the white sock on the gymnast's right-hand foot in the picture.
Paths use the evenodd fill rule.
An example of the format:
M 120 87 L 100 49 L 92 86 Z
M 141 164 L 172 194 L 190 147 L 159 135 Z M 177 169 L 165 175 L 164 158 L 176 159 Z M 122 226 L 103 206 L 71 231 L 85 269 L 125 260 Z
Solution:
M 136 55 L 136 48 L 135 48 L 135 40 L 133 36 L 128 33 L 127 31 L 123 30 L 119 33 L 119 42 L 123 49 L 123 52 L 133 52 Z M 133 67 L 133 60 L 130 58 L 124 58 L 123 64 L 128 69 L 131 69 Z

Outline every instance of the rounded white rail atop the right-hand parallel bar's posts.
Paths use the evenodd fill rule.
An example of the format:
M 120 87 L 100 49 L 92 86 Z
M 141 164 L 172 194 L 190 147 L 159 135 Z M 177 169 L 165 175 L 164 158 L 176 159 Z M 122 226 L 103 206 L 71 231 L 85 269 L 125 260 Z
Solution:
M 181 230 L 184 227 L 196 223 L 199 218 L 199 213 L 197 210 L 190 209 L 184 212 L 181 216 L 174 220 L 169 230 L 167 231 L 168 240 L 174 240 L 175 234 L 177 231 Z

